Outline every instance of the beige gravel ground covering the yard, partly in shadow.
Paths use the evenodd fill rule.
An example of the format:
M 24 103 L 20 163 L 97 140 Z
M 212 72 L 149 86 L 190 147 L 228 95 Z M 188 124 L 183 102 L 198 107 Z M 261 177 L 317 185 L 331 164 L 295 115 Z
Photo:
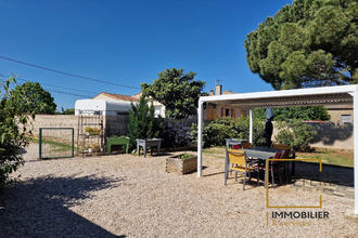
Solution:
M 37 160 L 30 145 L 21 182 L 0 196 L 0 237 L 357 237 L 354 200 L 322 195 L 322 208 L 268 209 L 256 181 L 223 185 L 223 160 L 204 155 L 203 177 L 165 172 L 171 154 Z M 34 150 L 34 151 L 33 151 Z M 178 153 L 177 153 L 178 154 Z M 317 204 L 319 194 L 269 189 L 270 204 Z M 271 203 L 272 202 L 272 203 Z M 272 212 L 329 212 L 278 219 Z M 268 215 L 268 216 L 267 216 Z M 291 223 L 290 223 L 291 222 Z

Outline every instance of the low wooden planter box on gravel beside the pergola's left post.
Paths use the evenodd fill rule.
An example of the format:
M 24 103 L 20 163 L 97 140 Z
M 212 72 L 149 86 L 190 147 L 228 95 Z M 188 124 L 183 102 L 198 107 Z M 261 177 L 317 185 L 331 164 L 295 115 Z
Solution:
M 166 172 L 186 174 L 197 169 L 197 156 L 178 159 L 178 156 L 166 159 Z

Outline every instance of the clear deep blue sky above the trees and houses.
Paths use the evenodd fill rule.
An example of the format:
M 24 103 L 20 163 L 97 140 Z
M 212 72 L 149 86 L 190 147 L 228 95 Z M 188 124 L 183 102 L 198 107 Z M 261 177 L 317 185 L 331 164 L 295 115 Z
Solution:
M 133 88 L 175 67 L 196 72 L 196 80 L 207 82 L 206 92 L 217 79 L 238 93 L 270 91 L 250 71 L 243 43 L 286 4 L 292 0 L 0 0 L 0 55 Z M 43 83 L 57 109 L 85 97 L 54 91 L 88 98 L 140 91 L 1 58 L 0 74 Z

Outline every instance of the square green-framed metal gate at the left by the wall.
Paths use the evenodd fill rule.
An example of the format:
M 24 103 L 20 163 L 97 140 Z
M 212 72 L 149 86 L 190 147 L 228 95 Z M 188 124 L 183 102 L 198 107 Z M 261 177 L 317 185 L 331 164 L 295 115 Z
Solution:
M 40 128 L 39 158 L 71 158 L 74 157 L 73 128 Z

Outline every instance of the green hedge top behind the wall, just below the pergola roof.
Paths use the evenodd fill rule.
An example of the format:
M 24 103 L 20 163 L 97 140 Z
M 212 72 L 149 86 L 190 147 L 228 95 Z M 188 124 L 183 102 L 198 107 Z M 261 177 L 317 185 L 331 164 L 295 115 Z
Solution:
M 330 120 L 330 115 L 327 113 L 327 108 L 322 106 L 279 107 L 272 108 L 272 110 L 274 115 L 274 121 L 285 121 L 292 119 L 316 121 Z M 254 117 L 266 120 L 266 108 L 254 109 Z

